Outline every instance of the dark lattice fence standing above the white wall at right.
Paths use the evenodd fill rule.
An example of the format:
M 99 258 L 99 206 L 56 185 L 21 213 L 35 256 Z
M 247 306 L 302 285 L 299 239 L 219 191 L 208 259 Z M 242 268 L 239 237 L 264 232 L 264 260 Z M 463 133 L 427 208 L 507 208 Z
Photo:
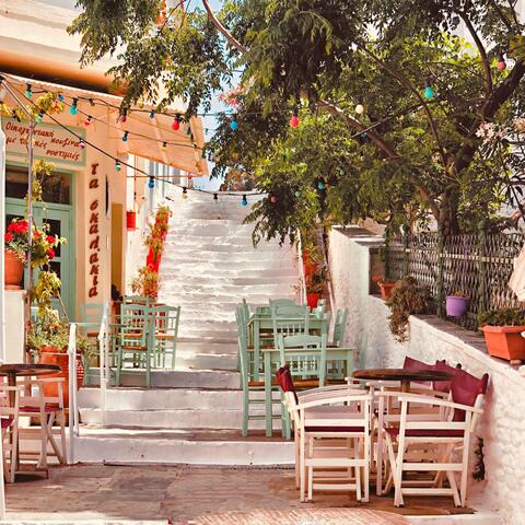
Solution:
M 469 299 L 468 311 L 450 320 L 476 330 L 480 312 L 520 306 L 509 279 L 524 243 L 521 232 L 448 237 L 435 232 L 405 234 L 387 243 L 386 276 L 389 280 L 411 276 L 427 285 L 443 317 L 446 295 L 462 291 Z

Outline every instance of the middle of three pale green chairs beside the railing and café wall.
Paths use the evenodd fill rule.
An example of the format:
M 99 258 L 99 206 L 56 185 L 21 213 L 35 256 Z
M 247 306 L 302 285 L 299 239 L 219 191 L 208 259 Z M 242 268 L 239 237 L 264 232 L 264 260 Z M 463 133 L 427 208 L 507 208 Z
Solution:
M 116 384 L 120 386 L 122 370 L 145 371 L 145 385 L 151 387 L 151 364 L 155 346 L 154 316 L 148 306 L 122 304 L 118 324 Z M 129 363 L 131 366 L 126 368 Z

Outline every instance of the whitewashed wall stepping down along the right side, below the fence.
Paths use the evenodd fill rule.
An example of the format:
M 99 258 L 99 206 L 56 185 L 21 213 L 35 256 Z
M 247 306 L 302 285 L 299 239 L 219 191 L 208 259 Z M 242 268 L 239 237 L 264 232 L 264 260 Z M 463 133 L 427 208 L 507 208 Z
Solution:
M 369 295 L 370 252 L 380 244 L 380 237 L 358 228 L 330 234 L 335 301 L 337 307 L 349 308 L 348 342 L 359 346 L 366 368 L 401 366 L 408 354 L 427 362 L 459 362 L 477 376 L 489 373 L 485 415 L 477 429 L 485 441 L 485 499 L 504 523 L 525 524 L 525 377 L 490 358 L 480 336 L 435 316 L 412 316 L 410 340 L 396 342 L 388 329 L 389 310 L 381 298 Z

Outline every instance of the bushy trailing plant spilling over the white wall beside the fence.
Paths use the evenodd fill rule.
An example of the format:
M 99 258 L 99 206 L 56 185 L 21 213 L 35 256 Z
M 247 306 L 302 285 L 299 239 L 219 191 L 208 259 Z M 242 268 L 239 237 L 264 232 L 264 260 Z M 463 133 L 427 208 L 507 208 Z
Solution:
M 396 340 L 405 342 L 408 339 L 408 319 L 413 314 L 432 312 L 432 298 L 427 287 L 418 284 L 413 277 L 405 277 L 392 291 L 386 300 L 390 308 L 388 323 Z

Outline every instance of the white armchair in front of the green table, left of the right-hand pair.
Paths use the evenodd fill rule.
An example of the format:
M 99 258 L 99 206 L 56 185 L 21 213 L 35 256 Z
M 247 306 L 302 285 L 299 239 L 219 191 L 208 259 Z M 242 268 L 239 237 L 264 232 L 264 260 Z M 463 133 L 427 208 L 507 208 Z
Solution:
M 314 489 L 355 490 L 358 501 L 369 501 L 371 394 L 337 385 L 298 397 L 288 365 L 277 376 L 294 422 L 301 501 Z

